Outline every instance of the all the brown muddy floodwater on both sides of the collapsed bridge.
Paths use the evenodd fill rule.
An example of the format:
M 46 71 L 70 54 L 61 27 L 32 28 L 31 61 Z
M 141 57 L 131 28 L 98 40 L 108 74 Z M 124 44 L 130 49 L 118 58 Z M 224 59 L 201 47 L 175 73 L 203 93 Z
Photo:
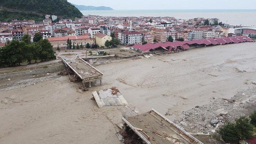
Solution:
M 0 91 L 0 143 L 118 144 L 115 123 L 121 114 L 117 107 L 99 109 L 92 91 L 117 86 L 142 113 L 154 108 L 174 120 L 213 97 L 231 98 L 255 86 L 255 54 L 255 43 L 190 49 L 97 66 L 103 85 L 87 92 L 68 76 Z

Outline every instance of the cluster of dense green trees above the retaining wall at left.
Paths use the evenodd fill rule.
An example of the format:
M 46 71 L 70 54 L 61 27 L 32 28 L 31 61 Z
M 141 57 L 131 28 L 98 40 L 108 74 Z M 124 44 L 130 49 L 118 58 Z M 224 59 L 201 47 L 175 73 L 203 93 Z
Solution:
M 0 67 L 16 66 L 20 63 L 32 60 L 47 61 L 56 59 L 52 44 L 43 39 L 40 33 L 36 33 L 31 43 L 31 37 L 25 34 L 22 41 L 12 40 L 3 48 L 0 48 Z

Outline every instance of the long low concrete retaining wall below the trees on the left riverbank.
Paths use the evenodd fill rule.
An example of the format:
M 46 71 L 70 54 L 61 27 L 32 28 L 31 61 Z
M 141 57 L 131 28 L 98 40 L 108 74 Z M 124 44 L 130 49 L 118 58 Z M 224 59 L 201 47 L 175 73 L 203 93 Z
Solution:
M 0 78 L 12 78 L 12 77 L 18 77 L 18 76 L 26 76 L 26 75 L 33 75 L 33 74 L 40 74 L 44 72 L 56 72 L 56 71 L 62 71 L 66 67 L 64 64 L 58 65 L 58 66 L 51 66 L 47 68 L 41 68 L 41 69 L 35 69 L 35 70 L 29 70 L 29 71 L 21 71 L 21 72 L 15 72 L 15 73 L 8 73 L 8 74 L 1 74 Z

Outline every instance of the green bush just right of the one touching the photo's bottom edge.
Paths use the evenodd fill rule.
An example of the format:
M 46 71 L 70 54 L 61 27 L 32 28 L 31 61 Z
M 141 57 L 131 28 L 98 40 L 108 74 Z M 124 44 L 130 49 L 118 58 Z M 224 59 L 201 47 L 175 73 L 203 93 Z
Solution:
M 250 123 L 250 120 L 245 116 L 236 119 L 236 130 L 238 132 L 240 140 L 253 138 L 254 126 Z

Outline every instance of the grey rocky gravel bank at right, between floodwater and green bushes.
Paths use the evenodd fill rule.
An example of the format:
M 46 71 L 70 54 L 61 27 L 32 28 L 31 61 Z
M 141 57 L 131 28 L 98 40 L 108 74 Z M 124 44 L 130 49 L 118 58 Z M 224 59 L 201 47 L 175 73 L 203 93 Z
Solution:
M 183 111 L 184 117 L 176 119 L 175 123 L 190 133 L 212 134 L 226 121 L 248 116 L 254 110 L 256 110 L 256 87 L 239 91 L 230 100 L 213 97 L 209 104 Z

